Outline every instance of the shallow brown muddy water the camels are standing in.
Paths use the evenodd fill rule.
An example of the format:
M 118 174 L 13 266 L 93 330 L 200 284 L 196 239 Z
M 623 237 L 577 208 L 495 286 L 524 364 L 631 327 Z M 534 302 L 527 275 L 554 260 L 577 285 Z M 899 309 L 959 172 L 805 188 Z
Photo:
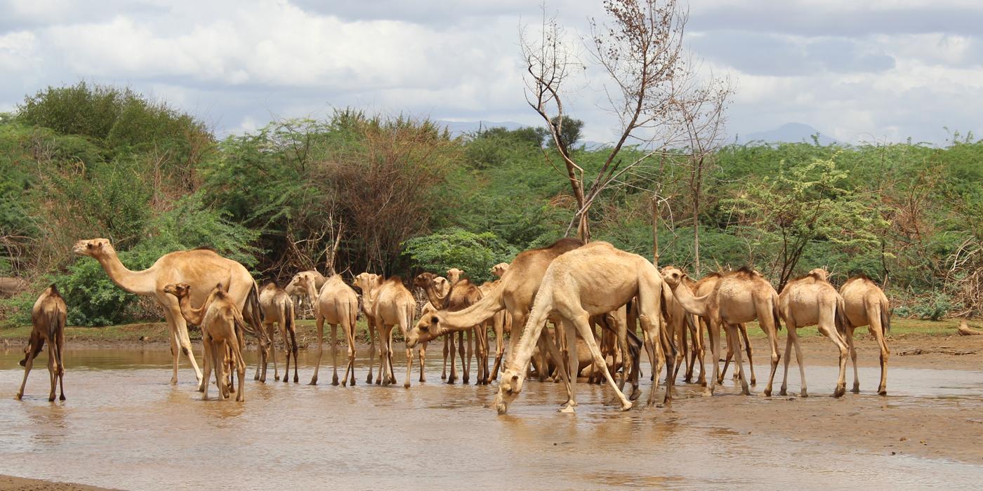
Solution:
M 617 412 L 599 403 L 605 391 L 586 384 L 578 384 L 576 415 L 555 411 L 564 399 L 558 385 L 531 382 L 510 413 L 497 416 L 495 386 L 440 383 L 434 354 L 430 383 L 414 376 L 410 390 L 366 385 L 364 359 L 354 388 L 325 384 L 331 372 L 323 366 L 321 385 L 308 386 L 311 368 L 302 363 L 300 384 L 249 380 L 245 404 L 201 401 L 184 365 L 171 386 L 170 355 L 138 350 L 68 351 L 65 403 L 47 402 L 38 360 L 19 402 L 20 357 L 0 352 L 0 473 L 106 487 L 884 489 L 968 488 L 983 480 L 981 466 L 843 451 L 767 431 L 736 434 L 712 421 L 682 424 L 680 409 Z M 401 382 L 404 372 L 397 373 Z M 811 393 L 832 391 L 834 369 L 809 367 L 807 375 Z M 890 404 L 979 401 L 983 393 L 970 382 L 983 379 L 979 372 L 891 375 L 898 390 Z M 877 371 L 861 377 L 876 380 Z M 797 391 L 797 382 L 789 389 Z M 648 385 L 643 390 L 644 399 Z M 679 398 L 697 391 L 683 386 Z M 734 393 L 729 382 L 721 392 L 735 397 L 727 396 Z

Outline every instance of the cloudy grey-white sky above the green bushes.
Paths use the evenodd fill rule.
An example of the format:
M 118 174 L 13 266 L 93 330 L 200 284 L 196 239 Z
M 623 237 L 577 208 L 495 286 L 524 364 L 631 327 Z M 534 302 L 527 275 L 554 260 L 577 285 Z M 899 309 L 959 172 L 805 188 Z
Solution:
M 549 0 L 576 34 L 600 0 Z M 809 124 L 839 140 L 980 134 L 983 2 L 698 0 L 686 44 L 736 94 L 728 133 Z M 540 125 L 523 95 L 531 0 L 0 0 L 0 111 L 47 85 L 130 85 L 219 135 L 357 106 Z M 570 94 L 586 137 L 616 124 L 603 78 Z

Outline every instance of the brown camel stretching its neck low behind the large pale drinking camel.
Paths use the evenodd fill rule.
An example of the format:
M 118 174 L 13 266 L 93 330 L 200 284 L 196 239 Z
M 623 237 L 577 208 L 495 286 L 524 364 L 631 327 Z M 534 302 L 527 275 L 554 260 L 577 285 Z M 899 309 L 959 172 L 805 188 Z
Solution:
M 428 293 L 437 311 L 420 319 L 410 331 L 407 342 L 413 346 L 453 331 L 469 329 L 487 321 L 495 312 L 502 309 L 507 310 L 512 316 L 513 326 L 525 326 L 529 309 L 533 306 L 533 298 L 540 288 L 549 263 L 563 252 L 582 245 L 583 243 L 577 239 L 568 238 L 560 239 L 547 247 L 520 252 L 502 274 L 499 288 L 493 290 L 491 295 L 461 310 L 451 311 L 443 306 L 442 300 Z M 430 275 L 430 273 L 423 273 L 421 276 L 423 275 Z M 417 277 L 418 281 L 421 280 L 421 276 Z M 414 284 L 420 285 L 416 281 Z M 427 290 L 423 285 L 420 286 Z M 515 353 L 515 346 L 519 341 L 517 334 L 513 332 L 509 338 L 506 358 L 512 357 Z

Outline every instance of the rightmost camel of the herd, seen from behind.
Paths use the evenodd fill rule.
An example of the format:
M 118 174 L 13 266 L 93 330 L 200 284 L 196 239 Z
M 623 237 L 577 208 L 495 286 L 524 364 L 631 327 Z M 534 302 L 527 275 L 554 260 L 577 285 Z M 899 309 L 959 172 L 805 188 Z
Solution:
M 853 346 L 853 330 L 867 326 L 867 330 L 870 331 L 870 334 L 877 340 L 878 346 L 881 347 L 881 384 L 877 387 L 877 393 L 881 396 L 887 396 L 888 357 L 891 355 L 891 351 L 888 350 L 886 337 L 891 331 L 891 304 L 884 295 L 884 291 L 864 275 L 854 276 L 846 280 L 846 283 L 839 287 L 839 295 L 842 296 L 846 307 L 846 345 L 850 349 L 850 358 L 853 359 L 853 389 L 851 392 L 854 394 L 860 392 L 860 379 L 857 378 L 857 352 Z M 965 320 L 962 323 L 965 323 Z

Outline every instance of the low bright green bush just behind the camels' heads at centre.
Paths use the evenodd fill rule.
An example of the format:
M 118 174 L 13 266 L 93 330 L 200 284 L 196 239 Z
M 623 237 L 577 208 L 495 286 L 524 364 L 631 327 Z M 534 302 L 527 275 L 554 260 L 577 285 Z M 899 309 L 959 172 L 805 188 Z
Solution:
M 450 268 L 459 268 L 478 284 L 491 281 L 492 266 L 511 262 L 517 253 L 515 247 L 491 232 L 474 234 L 458 228 L 403 243 L 403 255 L 410 258 L 415 269 L 443 275 Z

